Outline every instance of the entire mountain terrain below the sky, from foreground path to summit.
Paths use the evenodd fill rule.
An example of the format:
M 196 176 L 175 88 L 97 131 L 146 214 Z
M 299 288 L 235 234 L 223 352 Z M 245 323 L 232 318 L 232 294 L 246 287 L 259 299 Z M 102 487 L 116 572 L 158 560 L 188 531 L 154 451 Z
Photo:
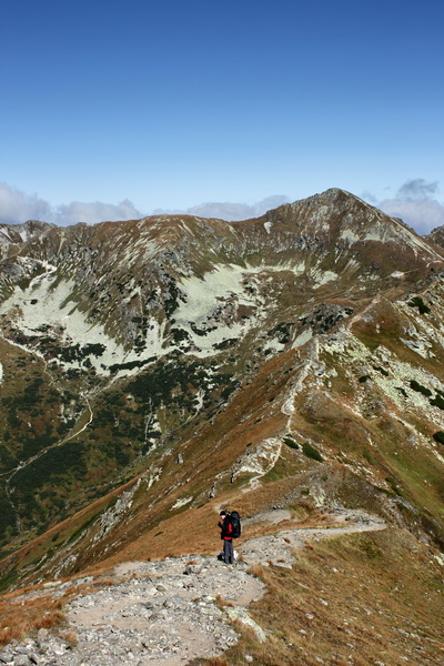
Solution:
M 435 663 L 438 230 L 327 190 L 0 236 L 10 663 Z

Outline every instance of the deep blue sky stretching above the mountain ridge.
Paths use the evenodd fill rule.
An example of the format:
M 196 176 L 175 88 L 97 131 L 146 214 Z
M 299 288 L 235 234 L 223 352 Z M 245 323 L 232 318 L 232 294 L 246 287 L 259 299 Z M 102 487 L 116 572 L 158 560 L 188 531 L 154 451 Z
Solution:
M 444 224 L 443 23 L 435 0 L 6 0 L 0 220 L 339 186 Z

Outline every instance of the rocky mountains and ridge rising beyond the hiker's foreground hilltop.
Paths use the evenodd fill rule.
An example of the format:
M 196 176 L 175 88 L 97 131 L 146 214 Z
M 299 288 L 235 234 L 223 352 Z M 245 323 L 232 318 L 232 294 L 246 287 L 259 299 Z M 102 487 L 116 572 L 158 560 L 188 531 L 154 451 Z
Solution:
M 342 190 L 242 222 L 2 225 L 3 587 L 155 555 L 250 491 L 443 543 L 440 238 Z

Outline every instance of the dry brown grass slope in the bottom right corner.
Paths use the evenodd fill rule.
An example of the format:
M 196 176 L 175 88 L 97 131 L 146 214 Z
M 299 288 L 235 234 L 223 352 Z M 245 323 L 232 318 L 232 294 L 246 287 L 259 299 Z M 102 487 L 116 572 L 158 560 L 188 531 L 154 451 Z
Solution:
M 256 567 L 266 595 L 250 609 L 266 630 L 224 657 L 261 666 L 438 666 L 444 659 L 442 574 L 407 533 L 387 529 L 314 543 L 293 569 Z M 322 662 L 320 662 L 322 659 Z

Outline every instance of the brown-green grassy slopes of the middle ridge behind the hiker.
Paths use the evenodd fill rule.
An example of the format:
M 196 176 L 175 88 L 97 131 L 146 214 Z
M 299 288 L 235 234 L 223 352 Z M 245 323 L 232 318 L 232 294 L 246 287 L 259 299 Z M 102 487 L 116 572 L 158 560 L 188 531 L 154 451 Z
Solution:
M 412 314 L 416 316 L 414 311 Z M 408 347 L 393 343 L 393 333 L 408 324 L 404 321 L 405 315 L 397 314 L 400 321 L 394 315 L 396 311 L 390 303 L 383 309 L 374 310 L 372 314 L 373 327 L 379 325 L 376 352 L 361 344 L 360 340 L 364 334 L 372 334 L 374 339 L 375 333 L 363 330 L 357 321 L 353 323 L 353 333 L 357 337 L 352 337 L 352 342 L 354 340 L 353 344 L 361 344 L 361 355 L 354 356 L 347 349 L 340 352 L 322 352 L 319 359 L 325 364 L 322 374 L 316 371 L 304 375 L 305 359 L 311 353 L 309 349 L 282 353 L 268 361 L 256 376 L 250 380 L 251 383 L 238 390 L 232 395 L 229 406 L 222 407 L 219 414 L 214 415 L 212 423 L 195 423 L 191 438 L 183 443 L 180 438 L 171 440 L 168 455 L 164 455 L 162 450 L 150 453 L 143 465 L 145 470 L 159 468 L 159 480 L 150 491 L 147 491 L 145 486 L 140 487 L 125 519 L 118 522 L 115 528 L 102 542 L 91 547 L 91 541 L 94 533 L 97 534 L 97 527 L 92 523 L 94 515 L 98 516 L 100 512 L 89 515 L 87 522 L 81 517 L 85 515 L 83 513 L 74 516 L 69 524 L 75 527 L 70 527 L 69 533 L 60 531 L 56 542 L 56 546 L 59 547 L 67 542 L 67 536 L 71 538 L 72 532 L 80 535 L 74 548 L 78 558 L 72 573 L 110 556 L 115 561 L 124 561 L 162 556 L 164 552 L 179 554 L 184 545 L 179 539 L 175 547 L 172 534 L 174 529 L 180 531 L 176 526 L 189 514 L 186 509 L 192 508 L 201 511 L 202 515 L 205 514 L 206 527 L 202 532 L 211 532 L 212 521 L 209 516 L 213 515 L 214 509 L 211 503 L 209 504 L 209 495 L 214 481 L 220 503 L 225 492 L 231 494 L 236 488 L 242 490 L 243 484 L 251 477 L 251 474 L 244 474 L 238 477 L 234 484 L 231 483 L 230 470 L 239 456 L 254 451 L 258 444 L 269 437 L 282 440 L 289 431 L 300 446 L 307 441 L 320 450 L 325 458 L 326 478 L 329 474 L 337 476 L 337 470 L 346 471 L 340 490 L 336 482 L 334 487 L 331 487 L 327 481 L 323 482 L 327 497 L 333 493 L 346 500 L 350 506 L 362 506 L 365 505 L 362 487 L 380 487 L 385 495 L 382 491 L 370 492 L 373 497 L 373 511 L 383 509 L 386 515 L 389 512 L 390 515 L 395 515 L 401 524 L 410 525 L 413 529 L 417 524 L 436 536 L 443 506 L 442 463 L 422 433 L 431 431 L 431 414 L 435 414 L 437 408 L 433 407 L 428 413 L 422 403 L 415 402 L 417 393 L 410 389 L 408 377 L 406 380 L 405 376 L 402 379 L 396 375 L 397 366 L 394 362 L 401 360 L 404 364 L 408 363 L 408 376 L 412 377 L 417 376 L 415 369 L 420 369 L 421 372 L 427 372 L 431 377 L 441 381 L 441 370 L 431 361 L 418 357 Z M 369 324 L 366 325 L 369 327 Z M 321 337 L 324 339 L 326 340 L 325 336 Z M 408 397 L 402 412 L 398 404 L 386 393 L 390 386 L 385 389 L 380 382 L 381 379 L 391 380 L 381 374 L 381 359 L 377 356 L 377 350 L 384 346 L 387 349 L 389 344 L 393 347 L 393 367 L 387 366 L 389 370 L 385 370 L 384 366 L 382 370 L 394 375 L 393 382 L 400 385 Z M 364 372 L 363 365 L 372 380 L 369 383 L 360 382 Z M 282 405 L 301 376 L 305 379 L 301 385 L 302 390 L 295 394 L 295 411 L 290 417 L 283 414 Z M 437 428 L 437 425 L 432 426 L 432 432 L 433 427 Z M 433 442 L 431 433 L 428 442 Z M 317 463 L 310 462 L 301 448 L 293 451 L 284 446 L 283 451 L 285 455 L 281 456 L 264 481 L 293 478 L 294 486 L 304 486 L 304 492 L 310 495 L 307 500 L 313 503 L 315 493 L 311 492 L 310 482 L 306 484 L 299 475 L 306 471 L 307 465 L 316 466 Z M 182 464 L 178 463 L 179 453 Z M 366 485 L 364 483 L 353 487 L 347 471 L 365 480 Z M 190 503 L 173 508 L 176 501 L 188 498 L 191 498 Z M 99 502 L 100 511 L 104 511 L 113 501 L 115 500 L 104 498 Z M 239 496 L 235 501 L 239 502 Z M 390 509 L 383 508 L 384 503 L 389 503 Z M 168 528 L 169 525 L 172 526 L 171 529 Z M 89 526 L 87 531 L 85 526 Z M 47 547 L 53 545 L 44 535 L 40 543 L 39 552 L 42 554 L 44 543 Z M 19 567 L 26 562 L 29 563 L 28 555 L 22 564 L 20 558 L 21 556 L 14 557 Z M 36 558 L 33 561 L 36 562 Z M 6 563 L 3 567 L 4 565 Z M 38 561 L 36 566 L 38 572 Z M 49 573 L 51 566 L 48 565 L 46 569 Z

